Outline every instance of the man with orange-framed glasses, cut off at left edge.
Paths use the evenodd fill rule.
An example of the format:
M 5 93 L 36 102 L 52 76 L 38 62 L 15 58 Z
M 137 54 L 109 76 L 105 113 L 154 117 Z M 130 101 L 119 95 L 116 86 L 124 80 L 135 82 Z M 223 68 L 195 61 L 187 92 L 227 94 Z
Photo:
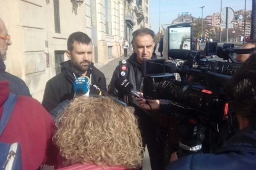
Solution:
M 13 94 L 31 96 L 25 82 L 17 76 L 6 72 L 6 51 L 8 46 L 12 44 L 11 37 L 7 33 L 6 26 L 0 18 L 0 81 L 7 80 L 10 83 L 10 89 Z

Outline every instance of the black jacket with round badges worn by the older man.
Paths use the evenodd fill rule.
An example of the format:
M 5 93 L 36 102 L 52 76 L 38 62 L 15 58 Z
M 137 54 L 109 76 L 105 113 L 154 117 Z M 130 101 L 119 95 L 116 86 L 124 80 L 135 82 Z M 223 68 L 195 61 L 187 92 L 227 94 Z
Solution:
M 156 58 L 153 54 L 151 59 Z M 142 65 L 137 63 L 136 54 L 132 54 L 127 61 L 127 79 L 134 86 L 135 91 L 142 92 Z M 119 65 L 114 70 L 112 79 L 108 86 L 109 95 L 119 97 L 119 99 L 124 99 L 124 96 L 119 94 L 117 89 L 114 87 L 116 80 L 120 77 L 120 67 Z M 134 114 L 137 116 L 139 121 L 139 128 L 142 134 L 143 144 L 147 144 L 151 169 L 163 169 L 164 166 L 164 143 L 163 137 L 160 135 L 160 126 L 156 123 L 155 117 L 160 114 L 155 111 L 146 111 L 137 106 L 137 101 L 128 95 L 128 105 L 135 108 Z M 161 137 L 160 137 L 161 136 Z M 164 134 L 164 136 L 166 136 Z

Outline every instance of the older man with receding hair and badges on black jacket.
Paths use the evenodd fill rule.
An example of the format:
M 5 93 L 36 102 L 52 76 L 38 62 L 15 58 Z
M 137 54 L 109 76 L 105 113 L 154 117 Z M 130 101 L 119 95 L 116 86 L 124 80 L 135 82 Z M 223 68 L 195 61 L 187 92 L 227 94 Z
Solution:
M 158 124 L 152 118 L 152 115 L 147 111 L 139 108 L 137 102 L 132 95 L 124 96 L 114 87 L 116 80 L 120 77 L 128 79 L 134 86 L 134 90 L 142 92 L 142 62 L 147 59 L 154 59 L 153 54 L 155 46 L 155 33 L 148 28 L 140 28 L 132 34 L 132 47 L 134 53 L 127 60 L 122 60 L 121 65 L 118 65 L 114 70 L 113 76 L 108 86 L 109 95 L 119 97 L 119 99 L 127 100 L 128 105 L 135 108 L 135 115 L 139 117 L 139 127 L 142 133 L 143 144 L 147 144 L 150 155 L 151 169 L 163 169 L 164 161 L 164 144 L 159 134 Z M 153 114 L 153 113 L 151 113 Z

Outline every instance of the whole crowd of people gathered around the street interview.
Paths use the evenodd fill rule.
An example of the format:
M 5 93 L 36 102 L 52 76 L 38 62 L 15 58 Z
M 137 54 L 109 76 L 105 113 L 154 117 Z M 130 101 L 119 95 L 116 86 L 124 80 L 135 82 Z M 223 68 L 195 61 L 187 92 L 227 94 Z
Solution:
M 195 48 L 199 48 L 199 40 Z M 7 73 L 7 47 L 12 44 L 0 18 L 0 118 L 10 94 L 17 96 L 12 117 L 0 142 L 19 142 L 23 169 L 142 169 L 147 145 L 151 169 L 254 169 L 256 162 L 256 53 L 237 55 L 241 68 L 226 87 L 239 131 L 215 153 L 201 153 L 164 162 L 168 134 L 156 119 L 171 111 L 169 100 L 143 99 L 143 60 L 156 59 L 155 33 L 140 28 L 132 34 L 133 53 L 114 70 L 106 87 L 105 75 L 92 62 L 93 43 L 82 32 L 67 39 L 61 73 L 46 83 L 42 103 L 32 98 L 25 82 Z M 127 56 L 129 43 L 122 47 Z M 255 47 L 255 41 L 243 48 Z M 163 52 L 163 38 L 158 51 Z M 123 67 L 125 66 L 125 67 Z M 126 68 L 126 69 L 124 69 Z M 89 97 L 77 95 L 74 82 L 87 78 Z M 117 91 L 117 79 L 132 84 L 141 97 Z M 95 87 L 96 86 L 96 87 Z M 94 88 L 94 89 L 93 89 Z M 28 107 L 29 106 L 29 107 Z M 175 140 L 175 139 L 173 139 Z M 171 155 L 169 155 L 171 156 Z

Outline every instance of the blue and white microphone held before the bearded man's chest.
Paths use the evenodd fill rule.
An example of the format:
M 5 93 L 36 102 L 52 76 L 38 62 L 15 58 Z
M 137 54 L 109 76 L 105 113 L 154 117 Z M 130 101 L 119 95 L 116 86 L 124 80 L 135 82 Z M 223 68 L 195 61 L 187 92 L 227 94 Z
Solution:
M 89 96 L 90 92 L 90 78 L 87 76 L 81 76 L 75 79 L 73 83 L 75 96 L 77 95 L 86 95 Z

